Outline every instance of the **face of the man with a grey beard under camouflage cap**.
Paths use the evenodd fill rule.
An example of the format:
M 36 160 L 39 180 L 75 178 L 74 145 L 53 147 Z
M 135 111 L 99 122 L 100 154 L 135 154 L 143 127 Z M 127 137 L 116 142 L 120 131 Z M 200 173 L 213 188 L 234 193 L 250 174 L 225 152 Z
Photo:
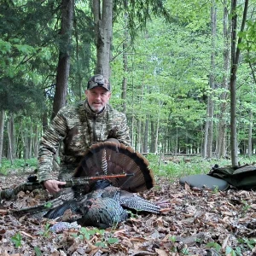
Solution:
M 87 96 L 90 108 L 95 113 L 100 113 L 108 103 L 111 92 L 106 90 L 105 88 L 97 86 L 90 90 L 85 90 L 85 95 Z

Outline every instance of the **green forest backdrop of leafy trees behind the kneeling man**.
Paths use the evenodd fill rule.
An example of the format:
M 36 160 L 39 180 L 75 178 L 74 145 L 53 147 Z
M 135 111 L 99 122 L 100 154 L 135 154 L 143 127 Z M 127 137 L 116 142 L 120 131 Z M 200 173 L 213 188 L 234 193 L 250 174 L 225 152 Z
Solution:
M 246 2 L 235 12 L 231 3 L 113 1 L 111 103 L 126 114 L 138 151 L 230 156 L 236 14 L 236 148 L 255 153 L 255 1 L 248 3 L 242 31 Z M 64 6 L 70 20 L 63 19 Z M 99 67 L 95 11 L 88 1 L 5 0 L 0 16 L 0 152 L 31 158 L 55 110 L 84 100 Z M 55 105 L 63 56 L 70 68 Z

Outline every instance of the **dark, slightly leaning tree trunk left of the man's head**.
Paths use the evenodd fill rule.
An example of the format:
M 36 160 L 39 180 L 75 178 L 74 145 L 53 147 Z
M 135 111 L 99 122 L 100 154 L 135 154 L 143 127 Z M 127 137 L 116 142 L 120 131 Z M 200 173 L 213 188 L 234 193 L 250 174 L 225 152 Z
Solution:
M 73 28 L 73 0 L 61 3 L 61 43 L 57 67 L 55 97 L 51 119 L 67 104 L 67 83 L 70 69 L 70 48 Z

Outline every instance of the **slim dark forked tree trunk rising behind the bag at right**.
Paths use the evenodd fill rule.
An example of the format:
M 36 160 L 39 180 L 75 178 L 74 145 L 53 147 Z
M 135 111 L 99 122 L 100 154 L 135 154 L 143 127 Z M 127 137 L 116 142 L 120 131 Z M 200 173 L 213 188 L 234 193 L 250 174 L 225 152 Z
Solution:
M 243 17 L 241 21 L 241 32 L 247 19 L 248 0 L 245 1 Z M 237 135 L 236 135 L 236 72 L 239 63 L 240 49 L 236 46 L 237 38 L 237 15 L 236 0 L 231 1 L 232 15 L 232 33 L 231 33 L 231 68 L 230 68 L 230 145 L 231 145 L 231 162 L 232 166 L 238 166 L 237 156 Z M 238 39 L 237 45 L 241 44 L 241 38 Z

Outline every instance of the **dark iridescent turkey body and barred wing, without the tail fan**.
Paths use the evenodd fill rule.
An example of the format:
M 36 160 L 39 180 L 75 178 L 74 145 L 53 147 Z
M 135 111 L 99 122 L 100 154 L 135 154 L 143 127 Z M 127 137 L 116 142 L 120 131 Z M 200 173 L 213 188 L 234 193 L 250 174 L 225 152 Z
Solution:
M 71 210 L 80 216 L 77 221 L 81 225 L 108 228 L 128 218 L 126 209 L 154 213 L 160 212 L 160 207 L 150 201 L 113 187 L 110 183 L 106 186 L 106 183 L 106 180 L 96 182 L 96 190 L 91 191 L 87 195 L 82 195 L 77 200 L 66 201 L 62 206 L 51 209 L 44 217 L 58 218 L 67 210 Z M 103 188 L 101 188 L 101 184 Z

